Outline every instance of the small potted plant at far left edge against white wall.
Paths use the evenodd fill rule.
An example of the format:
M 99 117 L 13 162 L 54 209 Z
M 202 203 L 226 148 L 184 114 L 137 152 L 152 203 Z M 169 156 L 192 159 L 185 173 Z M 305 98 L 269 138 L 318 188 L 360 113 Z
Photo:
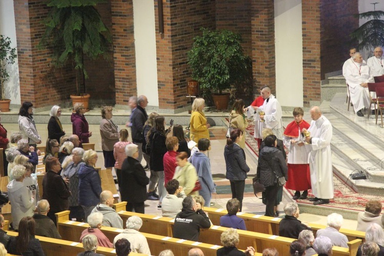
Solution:
M 11 47 L 11 39 L 0 35 L 0 86 L 2 87 L 2 97 L 0 100 L 0 110 L 2 112 L 9 112 L 10 99 L 5 97 L 5 82 L 9 79 L 7 72 L 7 65 L 15 63 L 16 48 Z

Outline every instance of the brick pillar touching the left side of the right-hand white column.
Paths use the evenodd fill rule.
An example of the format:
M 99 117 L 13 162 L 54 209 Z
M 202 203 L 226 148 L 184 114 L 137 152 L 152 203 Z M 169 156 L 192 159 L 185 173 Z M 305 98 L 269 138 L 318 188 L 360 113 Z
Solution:
M 273 0 L 251 0 L 253 85 L 276 90 Z M 258 93 L 258 92 L 255 92 Z

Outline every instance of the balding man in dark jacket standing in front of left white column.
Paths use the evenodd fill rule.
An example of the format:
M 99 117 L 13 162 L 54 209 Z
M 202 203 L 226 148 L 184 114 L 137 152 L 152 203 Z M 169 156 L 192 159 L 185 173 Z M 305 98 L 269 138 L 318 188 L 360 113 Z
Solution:
M 141 162 L 143 159 L 142 144 L 143 144 L 143 128 L 145 121 L 148 119 L 148 115 L 145 111 L 145 107 L 148 105 L 148 99 L 144 95 L 140 95 L 137 98 L 137 107 L 131 114 L 132 122 L 132 141 L 139 146 L 139 157 L 137 160 Z

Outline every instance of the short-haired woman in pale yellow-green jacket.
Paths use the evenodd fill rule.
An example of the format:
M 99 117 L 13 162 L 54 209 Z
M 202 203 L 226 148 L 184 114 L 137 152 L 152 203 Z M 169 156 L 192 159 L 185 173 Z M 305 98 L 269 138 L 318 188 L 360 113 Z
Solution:
M 186 152 L 180 152 L 176 155 L 177 167 L 175 170 L 174 179 L 179 182 L 179 186 L 183 187 L 184 193 L 187 196 L 199 195 L 198 189 L 200 186 L 197 177 L 196 168 L 187 160 Z

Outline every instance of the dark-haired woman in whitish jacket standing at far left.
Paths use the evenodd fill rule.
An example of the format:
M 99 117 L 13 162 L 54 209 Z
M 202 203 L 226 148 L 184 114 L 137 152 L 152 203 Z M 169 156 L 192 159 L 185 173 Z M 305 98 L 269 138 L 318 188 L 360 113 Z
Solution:
M 19 132 L 23 134 L 23 139 L 28 140 L 30 145 L 36 147 L 36 144 L 41 143 L 41 137 L 37 133 L 36 124 L 32 117 L 32 106 L 33 104 L 31 102 L 23 102 L 18 112 L 18 128 Z

